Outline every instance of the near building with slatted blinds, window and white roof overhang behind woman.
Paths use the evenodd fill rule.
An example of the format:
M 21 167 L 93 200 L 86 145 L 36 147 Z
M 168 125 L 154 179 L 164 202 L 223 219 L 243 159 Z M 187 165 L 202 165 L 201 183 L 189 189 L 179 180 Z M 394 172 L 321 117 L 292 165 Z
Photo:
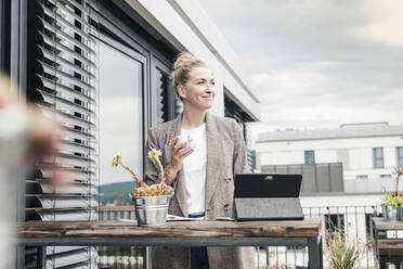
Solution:
M 62 127 L 57 154 L 20 178 L 18 221 L 99 219 L 99 185 L 131 180 L 112 169 L 117 152 L 142 176 L 147 130 L 181 112 L 170 80 L 179 52 L 213 71 L 211 113 L 236 118 L 247 136 L 259 119 L 242 62 L 196 1 L 0 0 L 0 72 Z M 47 184 L 55 165 L 68 188 Z M 18 267 L 35 268 L 25 251 Z M 96 268 L 86 246 L 47 255 L 47 268 Z

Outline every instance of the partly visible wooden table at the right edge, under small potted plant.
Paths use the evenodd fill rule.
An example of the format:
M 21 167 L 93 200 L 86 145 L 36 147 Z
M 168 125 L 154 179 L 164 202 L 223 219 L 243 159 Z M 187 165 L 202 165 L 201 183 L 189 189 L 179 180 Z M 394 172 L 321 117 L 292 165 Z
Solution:
M 384 221 L 373 219 L 375 249 L 380 268 L 386 262 L 399 265 L 403 262 L 403 221 Z

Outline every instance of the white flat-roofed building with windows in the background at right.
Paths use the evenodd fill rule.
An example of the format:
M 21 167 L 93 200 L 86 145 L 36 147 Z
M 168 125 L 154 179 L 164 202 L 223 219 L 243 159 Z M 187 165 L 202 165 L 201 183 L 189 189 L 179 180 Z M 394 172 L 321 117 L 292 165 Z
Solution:
M 261 170 L 284 165 L 315 166 L 316 170 L 323 166 L 342 169 L 342 182 L 334 190 L 332 184 L 339 178 L 332 178 L 333 174 L 306 178 L 306 184 L 314 178 L 316 182 L 311 185 L 320 187 L 310 188 L 307 193 L 392 191 L 392 169 L 403 166 L 403 125 L 375 123 L 342 125 L 338 129 L 277 131 L 262 133 L 257 145 Z

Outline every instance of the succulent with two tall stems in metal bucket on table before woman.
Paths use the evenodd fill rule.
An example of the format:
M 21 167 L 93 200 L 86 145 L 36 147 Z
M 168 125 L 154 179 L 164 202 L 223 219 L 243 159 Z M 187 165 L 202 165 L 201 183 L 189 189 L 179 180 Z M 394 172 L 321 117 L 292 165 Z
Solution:
M 128 170 L 139 183 L 129 194 L 134 202 L 138 225 L 143 227 L 158 227 L 166 225 L 169 202 L 173 195 L 173 189 L 165 183 L 164 167 L 159 159 L 161 152 L 153 149 L 147 157 L 156 162 L 159 169 L 158 183 L 147 185 L 139 176 L 123 163 L 120 154 L 112 159 L 112 166 L 121 166 Z

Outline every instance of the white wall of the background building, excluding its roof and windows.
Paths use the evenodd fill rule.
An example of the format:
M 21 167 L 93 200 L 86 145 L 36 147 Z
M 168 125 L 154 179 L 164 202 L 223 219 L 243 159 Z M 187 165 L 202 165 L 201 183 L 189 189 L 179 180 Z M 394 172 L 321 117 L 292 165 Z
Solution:
M 256 143 L 260 167 L 303 164 L 304 151 L 314 151 L 317 164 L 341 162 L 346 192 L 393 190 L 392 169 L 396 166 L 396 146 L 403 146 L 403 139 L 398 136 Z M 384 168 L 374 168 L 373 148 L 384 149 Z M 359 179 L 361 176 L 367 178 Z M 403 184 L 400 188 L 403 190 Z

